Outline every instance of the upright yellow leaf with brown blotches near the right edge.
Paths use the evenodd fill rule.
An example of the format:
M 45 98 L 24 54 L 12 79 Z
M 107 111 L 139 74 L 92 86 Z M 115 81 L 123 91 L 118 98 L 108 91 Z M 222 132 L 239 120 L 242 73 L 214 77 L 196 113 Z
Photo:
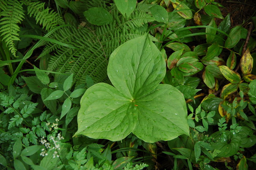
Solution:
M 241 71 L 244 75 L 250 74 L 252 72 L 253 66 L 253 58 L 249 52 L 249 48 L 245 51 L 244 55 L 242 56 L 241 60 Z

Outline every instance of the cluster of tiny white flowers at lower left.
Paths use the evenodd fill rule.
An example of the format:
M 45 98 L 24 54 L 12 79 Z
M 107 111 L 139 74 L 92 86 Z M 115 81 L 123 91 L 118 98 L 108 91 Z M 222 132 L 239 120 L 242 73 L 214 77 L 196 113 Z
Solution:
M 64 137 L 61 136 L 61 133 L 58 133 L 58 135 L 56 137 L 59 119 L 56 118 L 55 121 L 56 121 L 56 123 L 53 123 L 52 126 L 50 126 L 49 122 L 46 124 L 48 127 L 50 126 L 49 127 L 50 131 L 52 131 L 52 129 L 54 129 L 54 132 L 53 132 L 53 134 L 48 135 L 48 139 L 45 139 L 45 137 L 41 138 L 41 143 L 46 148 L 46 149 L 41 150 L 42 151 L 40 154 L 41 156 L 47 156 L 48 151 L 54 150 L 53 158 L 59 157 L 58 150 L 60 150 L 60 140 L 63 140 Z

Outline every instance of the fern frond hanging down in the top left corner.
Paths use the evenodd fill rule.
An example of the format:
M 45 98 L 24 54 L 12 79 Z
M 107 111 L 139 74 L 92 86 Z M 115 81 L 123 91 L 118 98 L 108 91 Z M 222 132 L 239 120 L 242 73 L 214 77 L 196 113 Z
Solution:
M 24 18 L 22 4 L 18 0 L 2 0 L 0 12 L 0 33 L 2 41 L 5 41 L 6 46 L 11 53 L 16 56 L 17 49 L 15 48 L 14 41 L 20 40 L 18 32 L 20 28 L 18 23 Z

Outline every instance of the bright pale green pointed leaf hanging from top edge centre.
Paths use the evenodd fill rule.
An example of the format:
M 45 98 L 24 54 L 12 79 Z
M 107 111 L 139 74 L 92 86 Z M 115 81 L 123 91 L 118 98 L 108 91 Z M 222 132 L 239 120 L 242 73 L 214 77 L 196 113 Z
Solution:
M 114 2 L 118 11 L 120 11 L 124 17 L 126 14 L 127 18 L 129 18 L 136 7 L 136 0 L 114 0 Z

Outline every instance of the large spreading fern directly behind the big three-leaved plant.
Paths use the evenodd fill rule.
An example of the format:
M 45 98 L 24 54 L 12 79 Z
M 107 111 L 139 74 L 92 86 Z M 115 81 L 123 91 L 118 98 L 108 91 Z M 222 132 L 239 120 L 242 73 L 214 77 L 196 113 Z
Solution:
M 94 83 L 108 82 L 106 68 L 113 50 L 129 39 L 145 34 L 137 27 L 154 21 L 148 14 L 148 5 L 138 5 L 128 20 L 118 14 L 116 7 L 109 8 L 114 18 L 110 24 L 93 26 L 87 23 L 85 27 L 64 27 L 53 34 L 51 38 L 79 50 L 51 43 L 46 45 L 42 55 L 54 51 L 49 71 L 73 72 L 76 86 L 85 83 L 87 75 L 93 78 Z

